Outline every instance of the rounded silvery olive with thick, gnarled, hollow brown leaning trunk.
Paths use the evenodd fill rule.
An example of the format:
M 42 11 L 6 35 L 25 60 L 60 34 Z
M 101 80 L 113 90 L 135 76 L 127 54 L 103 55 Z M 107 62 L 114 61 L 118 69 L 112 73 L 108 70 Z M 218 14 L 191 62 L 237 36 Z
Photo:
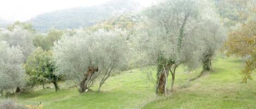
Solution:
M 57 74 L 74 81 L 80 93 L 87 91 L 98 76 L 99 58 L 94 41 L 87 31 L 80 30 L 74 36 L 64 34 L 53 47 Z

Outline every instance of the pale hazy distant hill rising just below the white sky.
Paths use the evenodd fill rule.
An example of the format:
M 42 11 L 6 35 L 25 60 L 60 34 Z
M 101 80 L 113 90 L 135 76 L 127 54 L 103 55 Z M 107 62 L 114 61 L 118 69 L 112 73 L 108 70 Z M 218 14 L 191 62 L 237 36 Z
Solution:
M 57 10 L 31 18 L 33 27 L 39 31 L 51 28 L 69 29 L 91 26 L 99 21 L 130 11 L 138 11 L 141 5 L 133 0 L 115 0 L 92 7 Z

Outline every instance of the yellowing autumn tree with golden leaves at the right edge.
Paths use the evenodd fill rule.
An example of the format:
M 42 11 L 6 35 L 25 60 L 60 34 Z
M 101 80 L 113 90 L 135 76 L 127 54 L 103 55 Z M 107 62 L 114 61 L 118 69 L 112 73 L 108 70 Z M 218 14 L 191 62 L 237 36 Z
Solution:
M 225 43 L 227 55 L 235 55 L 245 59 L 245 68 L 242 70 L 243 82 L 252 79 L 251 73 L 256 67 L 256 16 L 254 14 L 240 28 L 228 35 Z

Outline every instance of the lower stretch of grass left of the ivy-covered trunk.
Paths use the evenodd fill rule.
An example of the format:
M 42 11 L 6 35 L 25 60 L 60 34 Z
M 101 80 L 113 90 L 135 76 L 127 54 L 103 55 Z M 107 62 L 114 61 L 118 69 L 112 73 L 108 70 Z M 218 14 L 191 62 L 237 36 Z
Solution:
M 79 94 L 76 88 L 41 89 L 31 93 L 21 93 L 12 96 L 21 104 L 39 104 L 44 108 L 138 108 L 154 99 L 152 87 L 148 87 L 138 69 L 128 70 L 121 74 L 111 76 L 97 91 L 98 84 L 92 87 L 92 92 Z

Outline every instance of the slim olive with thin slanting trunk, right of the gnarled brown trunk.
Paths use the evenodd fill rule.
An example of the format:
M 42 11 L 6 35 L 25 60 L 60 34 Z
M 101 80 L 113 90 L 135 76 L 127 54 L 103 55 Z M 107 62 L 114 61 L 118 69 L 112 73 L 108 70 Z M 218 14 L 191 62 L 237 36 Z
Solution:
M 99 57 L 100 87 L 109 78 L 114 69 L 121 68 L 127 63 L 129 52 L 127 31 L 114 29 L 110 31 L 98 30 L 92 34 L 96 39 L 95 50 Z

